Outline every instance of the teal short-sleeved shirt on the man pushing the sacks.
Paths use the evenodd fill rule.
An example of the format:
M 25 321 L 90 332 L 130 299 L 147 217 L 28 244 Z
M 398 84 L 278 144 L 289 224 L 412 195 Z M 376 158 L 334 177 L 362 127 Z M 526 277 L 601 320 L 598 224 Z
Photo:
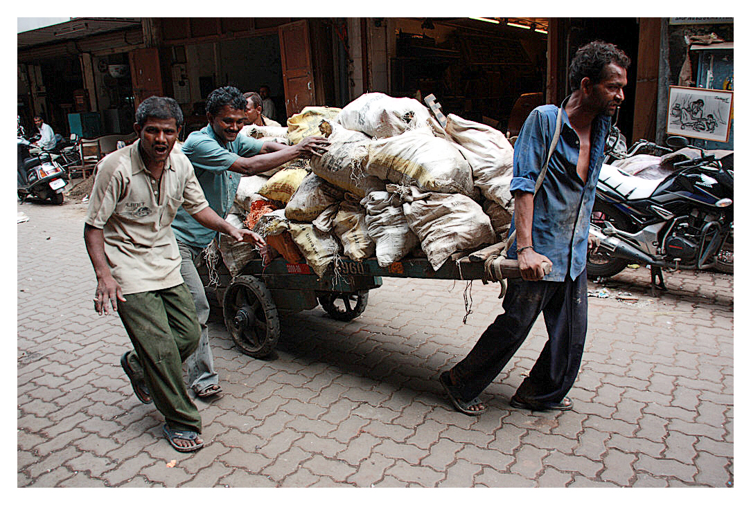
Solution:
M 182 144 L 182 152 L 193 164 L 195 176 L 204 189 L 209 206 L 220 217 L 227 216 L 240 185 L 240 174 L 231 172 L 229 167 L 240 156 L 249 158 L 257 155 L 263 145 L 261 141 L 245 135 L 238 135 L 232 142 L 223 143 L 216 137 L 211 125 L 194 131 Z M 180 242 L 200 248 L 209 245 L 216 236 L 216 231 L 199 224 L 182 207 L 172 222 L 172 230 Z

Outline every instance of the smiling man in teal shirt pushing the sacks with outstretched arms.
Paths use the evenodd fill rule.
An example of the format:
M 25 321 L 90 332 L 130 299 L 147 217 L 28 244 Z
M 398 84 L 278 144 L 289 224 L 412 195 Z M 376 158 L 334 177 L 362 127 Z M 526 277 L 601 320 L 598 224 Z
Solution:
M 245 124 L 246 99 L 237 88 L 225 86 L 211 92 L 206 101 L 209 124 L 185 139 L 182 152 L 191 161 L 195 175 L 204 190 L 209 206 L 222 218 L 234 202 L 241 176 L 253 176 L 303 155 L 320 156 L 328 140 L 307 137 L 294 146 L 238 135 Z M 216 236 L 214 230 L 202 226 L 188 212 L 179 210 L 172 223 L 177 246 L 182 256 L 180 273 L 195 302 L 201 340 L 186 362 L 188 383 L 199 398 L 222 391 L 209 347 L 209 302 L 195 267 L 195 259 Z M 258 237 L 258 240 L 263 240 Z

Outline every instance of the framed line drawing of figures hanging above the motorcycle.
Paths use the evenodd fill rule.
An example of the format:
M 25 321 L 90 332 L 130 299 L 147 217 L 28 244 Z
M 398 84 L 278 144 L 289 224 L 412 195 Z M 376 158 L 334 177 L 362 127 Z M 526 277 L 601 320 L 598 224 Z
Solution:
M 731 91 L 670 86 L 668 135 L 727 142 L 732 112 Z

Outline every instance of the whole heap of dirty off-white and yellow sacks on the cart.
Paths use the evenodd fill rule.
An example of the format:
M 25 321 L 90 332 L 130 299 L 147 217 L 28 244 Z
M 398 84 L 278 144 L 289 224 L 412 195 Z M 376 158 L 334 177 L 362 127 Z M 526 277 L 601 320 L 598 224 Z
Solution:
M 259 233 L 270 257 L 307 263 L 319 277 L 342 255 L 385 267 L 499 242 L 513 213 L 513 148 L 501 132 L 454 114 L 445 127 L 412 98 L 367 93 L 342 109 L 306 107 L 287 128 L 243 134 L 293 145 L 327 137 L 321 157 L 243 177 L 228 221 Z M 258 251 L 220 236 L 237 275 Z

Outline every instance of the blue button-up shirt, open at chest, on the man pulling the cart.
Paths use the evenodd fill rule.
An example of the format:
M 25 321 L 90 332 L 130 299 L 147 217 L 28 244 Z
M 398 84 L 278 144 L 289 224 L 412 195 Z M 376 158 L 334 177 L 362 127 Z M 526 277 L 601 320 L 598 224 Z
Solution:
M 565 107 L 566 101 L 562 107 Z M 558 107 L 543 105 L 532 110 L 514 143 L 514 178 L 511 192 L 535 192 L 535 182 L 547 159 L 547 152 L 556 130 Z M 545 281 L 565 281 L 584 272 L 587 263 L 587 236 L 590 215 L 595 203 L 597 178 L 605 158 L 605 139 L 610 129 L 610 117 L 599 115 L 592 124 L 590 137 L 590 167 L 587 180 L 576 172 L 579 159 L 579 137 L 563 110 L 561 134 L 538 194 L 532 215 L 532 245 L 553 262 Z M 514 231 L 514 221 L 511 230 Z M 508 250 L 509 258 L 516 258 L 516 241 Z

